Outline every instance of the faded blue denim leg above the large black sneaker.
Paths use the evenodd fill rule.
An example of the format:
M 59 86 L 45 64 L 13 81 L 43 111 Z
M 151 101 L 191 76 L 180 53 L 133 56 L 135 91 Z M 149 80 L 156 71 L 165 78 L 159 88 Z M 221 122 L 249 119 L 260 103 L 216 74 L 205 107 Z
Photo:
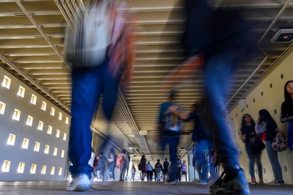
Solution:
M 235 63 L 236 52 L 226 51 L 216 54 L 207 61 L 204 68 L 207 112 L 212 118 L 212 121 L 208 121 L 208 123 L 212 125 L 210 125 L 210 130 L 217 148 L 218 161 L 223 163 L 224 168 L 240 166 L 233 130 L 222 116 L 222 108 L 225 105 L 226 92 L 230 84 L 229 79 L 237 67 L 237 63 Z

